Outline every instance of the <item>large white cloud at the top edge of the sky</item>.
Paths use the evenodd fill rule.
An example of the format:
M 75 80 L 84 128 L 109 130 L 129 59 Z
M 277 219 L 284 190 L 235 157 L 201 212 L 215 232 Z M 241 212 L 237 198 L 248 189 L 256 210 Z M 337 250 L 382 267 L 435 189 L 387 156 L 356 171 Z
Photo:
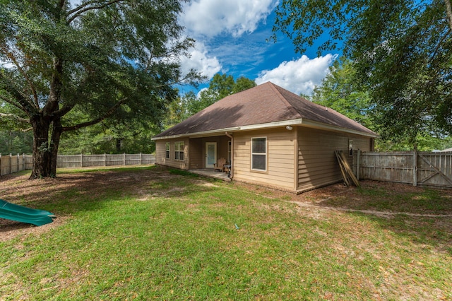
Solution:
M 195 36 L 252 33 L 275 8 L 275 0 L 196 0 L 184 8 L 182 23 Z

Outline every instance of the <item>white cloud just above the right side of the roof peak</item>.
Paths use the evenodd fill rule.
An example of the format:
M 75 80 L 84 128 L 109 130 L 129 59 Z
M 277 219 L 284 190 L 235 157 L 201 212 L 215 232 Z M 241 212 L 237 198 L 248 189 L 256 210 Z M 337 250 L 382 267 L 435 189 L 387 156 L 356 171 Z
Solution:
M 328 67 L 337 57 L 337 54 L 326 54 L 324 57 L 309 59 L 303 55 L 296 61 L 283 61 L 273 70 L 261 71 L 256 83 L 260 85 L 271 81 L 295 94 L 310 95 L 315 86 L 328 74 Z

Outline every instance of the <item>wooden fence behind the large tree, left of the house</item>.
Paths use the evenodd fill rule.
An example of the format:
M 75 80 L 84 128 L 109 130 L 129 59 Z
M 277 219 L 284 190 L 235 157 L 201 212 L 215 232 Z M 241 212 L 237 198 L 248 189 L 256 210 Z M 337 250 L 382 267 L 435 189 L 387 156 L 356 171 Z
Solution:
M 155 163 L 153 154 L 119 154 L 119 155 L 58 155 L 58 168 L 115 166 L 115 165 L 149 165 Z M 0 155 L 0 175 L 8 175 L 21 170 L 32 169 L 32 155 Z

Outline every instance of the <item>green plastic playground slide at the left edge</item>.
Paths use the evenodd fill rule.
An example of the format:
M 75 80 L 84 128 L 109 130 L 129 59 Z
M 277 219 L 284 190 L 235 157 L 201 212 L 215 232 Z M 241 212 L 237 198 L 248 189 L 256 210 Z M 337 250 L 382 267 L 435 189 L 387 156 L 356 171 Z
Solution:
M 0 218 L 40 226 L 52 223 L 54 217 L 49 211 L 27 208 L 0 199 Z

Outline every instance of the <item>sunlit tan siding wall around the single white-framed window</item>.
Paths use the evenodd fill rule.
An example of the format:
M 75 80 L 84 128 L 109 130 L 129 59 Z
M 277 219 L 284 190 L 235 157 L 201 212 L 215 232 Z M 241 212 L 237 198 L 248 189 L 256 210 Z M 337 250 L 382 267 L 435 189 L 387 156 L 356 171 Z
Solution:
M 251 138 L 267 137 L 267 171 L 251 170 Z M 234 134 L 234 179 L 295 190 L 295 131 L 286 129 Z

